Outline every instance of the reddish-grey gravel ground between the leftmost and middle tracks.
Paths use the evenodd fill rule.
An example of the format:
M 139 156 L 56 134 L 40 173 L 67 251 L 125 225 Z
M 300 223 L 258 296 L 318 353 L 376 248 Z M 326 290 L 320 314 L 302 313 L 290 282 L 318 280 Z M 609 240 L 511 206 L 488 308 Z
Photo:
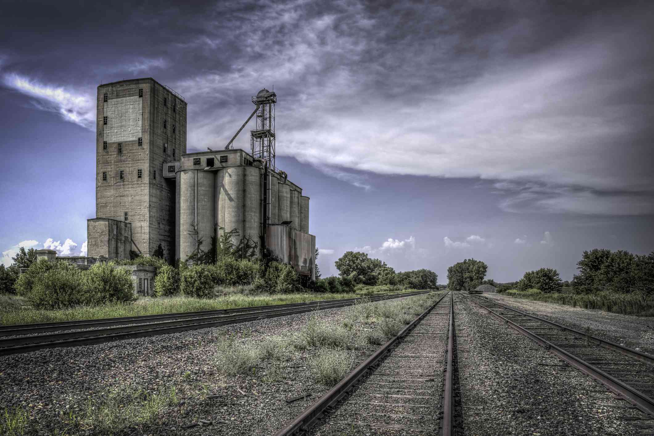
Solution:
M 216 369 L 216 343 L 227 335 L 246 345 L 271 336 L 290 340 L 290 335 L 301 331 L 311 316 L 339 325 L 348 318 L 349 310 L 320 310 L 158 337 L 5 356 L 0 358 L 0 410 L 20 406 L 27 411 L 26 434 L 50 435 L 55 429 L 68 428 L 71 435 L 101 435 L 107 434 L 107 429 L 80 429 L 75 423 L 76 416 L 84 416 L 89 399 L 103 401 L 109 392 L 139 388 L 143 395 L 157 394 L 174 386 L 179 403 L 164 409 L 155 424 L 129 424 L 114 434 L 270 435 L 328 390 L 309 374 L 312 351 L 291 348 L 283 365 L 266 361 L 251 374 L 225 376 Z M 362 336 L 363 329 L 354 326 L 351 334 Z M 355 343 L 356 349 L 349 351 L 353 365 L 377 349 L 362 339 Z M 309 395 L 286 403 L 286 399 L 305 394 Z

